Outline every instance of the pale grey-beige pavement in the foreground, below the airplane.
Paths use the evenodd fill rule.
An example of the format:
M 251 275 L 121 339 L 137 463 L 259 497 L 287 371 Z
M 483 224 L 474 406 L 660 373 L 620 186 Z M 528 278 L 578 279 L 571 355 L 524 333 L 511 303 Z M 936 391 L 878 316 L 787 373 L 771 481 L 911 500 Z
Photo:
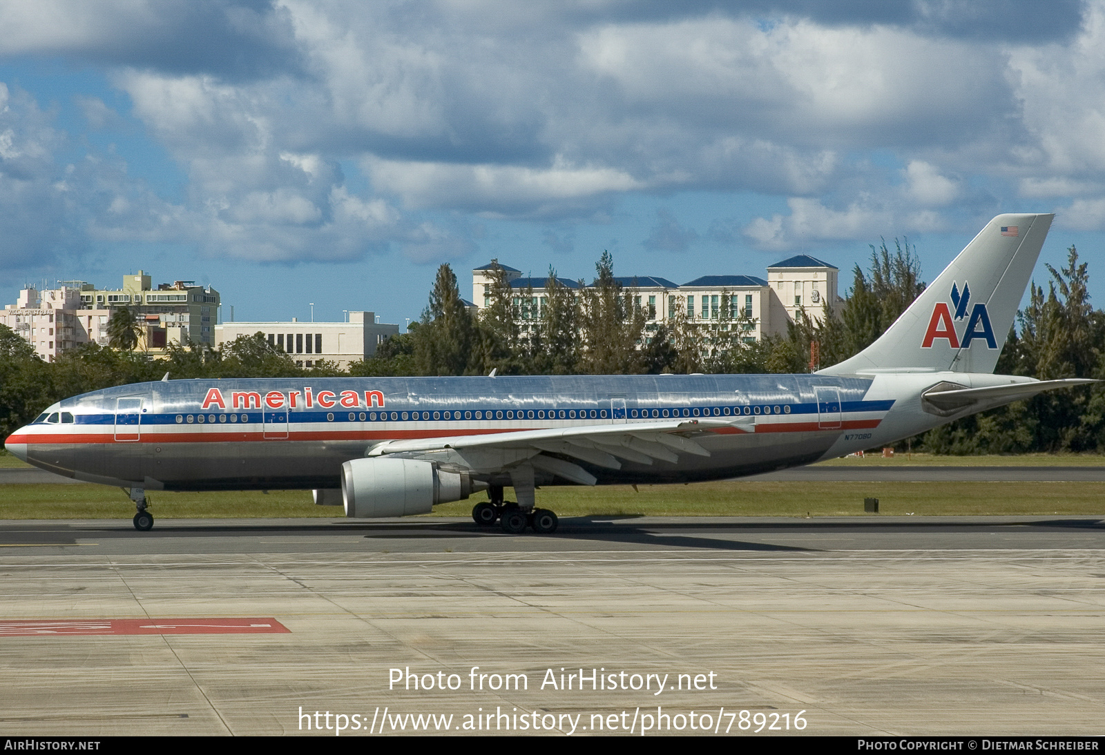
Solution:
M 4 734 L 317 733 L 303 713 L 329 735 L 444 721 L 408 714 L 486 733 L 488 713 L 492 733 L 533 733 L 514 727 L 525 713 L 558 734 L 579 716 L 576 735 L 615 719 L 640 733 L 648 715 L 669 733 L 663 715 L 682 715 L 670 733 L 687 734 L 691 712 L 736 734 L 741 711 L 791 734 L 799 712 L 809 734 L 1071 734 L 1105 709 L 1098 518 L 603 517 L 552 536 L 441 519 L 8 521 L 0 573 L 0 619 L 290 630 L 0 626 Z M 389 687 L 392 669 L 446 689 Z M 580 669 L 619 689 L 580 690 Z M 528 688 L 502 689 L 506 674 Z M 655 678 L 621 689 L 648 674 L 666 674 L 659 695 Z

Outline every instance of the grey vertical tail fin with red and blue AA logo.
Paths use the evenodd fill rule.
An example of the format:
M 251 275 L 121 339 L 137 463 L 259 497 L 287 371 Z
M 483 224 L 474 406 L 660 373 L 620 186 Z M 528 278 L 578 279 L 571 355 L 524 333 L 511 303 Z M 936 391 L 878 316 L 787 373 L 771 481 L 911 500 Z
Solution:
M 821 372 L 993 372 L 1052 219 L 998 215 L 878 340 Z

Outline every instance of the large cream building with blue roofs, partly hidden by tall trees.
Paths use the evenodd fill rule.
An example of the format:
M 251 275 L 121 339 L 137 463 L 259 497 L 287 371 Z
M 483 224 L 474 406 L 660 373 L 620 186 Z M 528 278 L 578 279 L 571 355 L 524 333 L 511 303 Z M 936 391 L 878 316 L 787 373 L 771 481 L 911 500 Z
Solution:
M 522 325 L 537 320 L 546 305 L 547 278 L 523 277 L 519 270 L 501 265 L 511 286 L 515 311 Z M 472 270 L 472 297 L 478 309 L 491 305 L 494 264 Z M 659 276 L 644 275 L 619 277 L 618 283 L 633 297 L 633 302 L 645 311 L 646 330 L 673 318 L 715 325 L 722 328 L 739 327 L 745 341 L 760 340 L 764 336 L 786 333 L 787 323 L 793 322 L 799 311 L 815 320 L 836 309 L 838 268 L 809 255 L 798 255 L 767 268 L 767 279 L 751 275 L 706 275 L 685 284 L 676 284 Z M 557 281 L 569 289 L 580 284 L 568 278 Z M 728 325 L 738 321 L 739 325 Z

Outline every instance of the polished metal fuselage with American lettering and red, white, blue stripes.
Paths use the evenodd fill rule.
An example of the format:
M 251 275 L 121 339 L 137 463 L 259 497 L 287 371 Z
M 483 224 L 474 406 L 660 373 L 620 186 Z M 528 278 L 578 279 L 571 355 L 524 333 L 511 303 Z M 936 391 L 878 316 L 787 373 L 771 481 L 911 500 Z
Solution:
M 108 485 L 309 489 L 339 487 L 341 464 L 386 440 L 732 419 L 732 428 L 695 433 L 709 456 L 617 470 L 575 460 L 600 485 L 690 482 L 885 442 L 878 427 L 895 398 L 869 396 L 873 382 L 817 374 L 162 381 L 62 401 L 44 417 L 64 412 L 71 422 L 35 422 L 8 446 L 44 469 Z M 939 424 L 932 419 L 907 429 Z

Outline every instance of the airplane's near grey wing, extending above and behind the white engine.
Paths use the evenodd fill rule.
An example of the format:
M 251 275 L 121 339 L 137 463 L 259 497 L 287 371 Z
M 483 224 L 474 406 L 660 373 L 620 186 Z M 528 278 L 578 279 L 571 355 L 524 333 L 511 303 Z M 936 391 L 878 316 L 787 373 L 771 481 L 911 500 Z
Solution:
M 754 432 L 753 417 L 678 418 L 617 425 L 580 425 L 536 430 L 457 435 L 444 438 L 386 440 L 373 446 L 368 456 L 401 454 L 414 458 L 443 458 L 473 470 L 491 471 L 516 464 L 581 485 L 594 485 L 596 478 L 582 467 L 557 456 L 567 456 L 608 469 L 621 469 L 621 460 L 651 465 L 655 460 L 678 461 L 678 454 L 709 456 L 694 436 L 716 429 Z

